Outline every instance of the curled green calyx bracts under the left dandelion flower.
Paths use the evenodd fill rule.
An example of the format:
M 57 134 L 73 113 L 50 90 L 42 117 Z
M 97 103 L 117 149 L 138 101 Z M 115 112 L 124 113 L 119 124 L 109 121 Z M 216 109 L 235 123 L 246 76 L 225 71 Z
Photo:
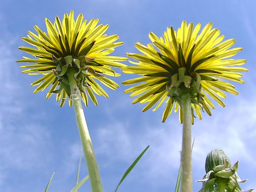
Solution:
M 71 98 L 71 90 L 68 80 L 67 73 L 70 71 L 70 69 L 75 69 L 76 73 L 73 75 L 73 78 L 76 80 L 77 87 L 80 92 L 83 92 L 86 94 L 84 87 L 91 86 L 87 81 L 89 79 L 87 78 L 88 72 L 93 74 L 94 76 L 102 76 L 99 71 L 95 71 L 90 66 L 103 66 L 102 64 L 97 63 L 94 61 L 93 58 L 86 57 L 86 56 L 79 56 L 78 58 L 73 58 L 71 55 L 68 55 L 66 57 L 60 57 L 56 58 L 52 55 L 52 61 L 57 64 L 55 69 L 52 69 L 54 76 L 56 77 L 55 81 L 60 82 L 60 89 L 52 91 L 52 93 L 59 93 L 62 91 L 62 89 L 65 90 L 68 97 Z M 74 70 L 73 70 L 74 71 Z

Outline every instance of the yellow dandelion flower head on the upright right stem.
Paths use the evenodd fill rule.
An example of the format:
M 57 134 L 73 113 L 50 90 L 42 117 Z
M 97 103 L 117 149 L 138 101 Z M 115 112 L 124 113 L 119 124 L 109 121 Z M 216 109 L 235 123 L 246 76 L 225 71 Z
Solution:
M 179 110 L 180 123 L 182 123 L 182 95 L 190 92 L 192 107 L 192 124 L 194 111 L 199 119 L 202 118 L 201 109 L 210 116 L 214 109 L 212 98 L 220 106 L 225 104 L 220 98 L 225 98 L 223 91 L 238 94 L 235 86 L 222 81 L 226 79 L 238 83 L 244 83 L 240 77 L 241 71 L 246 68 L 235 67 L 243 65 L 246 60 L 227 59 L 236 55 L 242 48 L 229 49 L 235 44 L 235 39 L 222 41 L 220 30 L 212 28 L 208 23 L 198 35 L 201 24 L 193 29 L 193 23 L 187 25 L 183 21 L 178 31 L 167 28 L 163 37 L 149 33 L 152 43 L 147 46 L 136 43 L 135 47 L 142 52 L 127 53 L 127 55 L 139 62 L 130 61 L 137 66 L 122 67 L 124 73 L 139 74 L 142 77 L 126 80 L 122 84 L 133 86 L 125 93 L 131 93 L 131 97 L 138 96 L 132 103 L 148 103 L 142 111 L 146 111 L 158 102 L 155 111 L 166 100 L 162 121 L 170 116 L 172 109 Z

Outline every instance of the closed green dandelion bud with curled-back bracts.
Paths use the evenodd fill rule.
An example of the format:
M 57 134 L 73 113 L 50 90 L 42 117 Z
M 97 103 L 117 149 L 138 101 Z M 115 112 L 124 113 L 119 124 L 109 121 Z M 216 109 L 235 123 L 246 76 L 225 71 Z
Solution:
M 203 187 L 199 192 L 239 192 L 243 191 L 238 182 L 244 183 L 237 174 L 238 161 L 231 167 L 228 156 L 223 150 L 212 150 L 205 161 L 206 175 L 202 180 Z M 246 192 L 251 192 L 249 189 Z

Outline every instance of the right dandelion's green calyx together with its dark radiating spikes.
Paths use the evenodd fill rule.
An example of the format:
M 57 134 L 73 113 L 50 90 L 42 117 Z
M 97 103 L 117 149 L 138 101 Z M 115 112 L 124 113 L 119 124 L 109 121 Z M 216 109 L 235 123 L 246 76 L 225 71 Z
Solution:
M 174 43 L 175 44 L 175 43 Z M 177 44 L 178 50 L 178 62 L 176 63 L 171 58 L 168 58 L 161 53 L 158 53 L 159 57 L 164 60 L 169 66 L 164 64 L 152 61 L 156 65 L 166 69 L 171 78 L 169 78 L 170 83 L 166 84 L 166 90 L 168 91 L 168 96 L 172 98 L 172 100 L 179 103 L 182 106 L 182 97 L 183 95 L 190 93 L 191 103 L 195 105 L 199 105 L 201 109 L 205 108 L 206 112 L 211 115 L 211 112 L 207 110 L 207 106 L 205 106 L 204 95 L 201 93 L 202 85 L 201 80 L 207 81 L 217 81 L 218 79 L 203 76 L 201 73 L 211 72 L 211 73 L 219 73 L 213 70 L 206 69 L 196 69 L 201 63 L 211 59 L 214 55 L 210 57 L 203 58 L 201 60 L 196 61 L 192 65 L 192 56 L 195 49 L 196 44 L 193 45 L 191 50 L 188 53 L 188 57 L 185 60 L 183 55 L 181 44 Z M 160 65 L 161 64 L 161 65 Z M 194 110 L 191 108 L 191 113 L 194 116 Z

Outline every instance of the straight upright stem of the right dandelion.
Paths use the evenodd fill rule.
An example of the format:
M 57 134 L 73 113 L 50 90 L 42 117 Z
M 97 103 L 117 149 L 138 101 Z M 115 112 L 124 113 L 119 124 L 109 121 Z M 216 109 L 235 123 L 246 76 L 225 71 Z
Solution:
M 191 97 L 189 93 L 183 96 L 182 111 L 181 192 L 192 192 Z

